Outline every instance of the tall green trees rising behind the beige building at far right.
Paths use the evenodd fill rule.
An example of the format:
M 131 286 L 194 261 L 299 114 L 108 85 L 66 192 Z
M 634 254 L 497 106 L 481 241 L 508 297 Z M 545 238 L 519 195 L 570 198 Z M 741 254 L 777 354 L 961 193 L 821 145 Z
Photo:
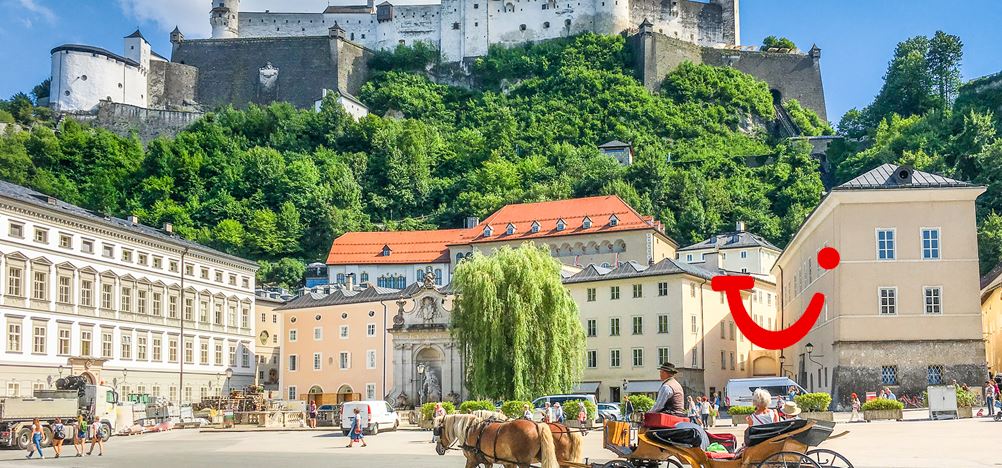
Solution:
M 910 164 L 983 184 L 978 198 L 981 273 L 1002 262 L 1002 103 L 999 76 L 960 84 L 960 38 L 942 31 L 909 38 L 895 49 L 884 86 L 863 110 L 839 123 L 846 140 L 829 160 L 837 182 L 882 163 Z M 956 100 L 953 98 L 956 96 Z

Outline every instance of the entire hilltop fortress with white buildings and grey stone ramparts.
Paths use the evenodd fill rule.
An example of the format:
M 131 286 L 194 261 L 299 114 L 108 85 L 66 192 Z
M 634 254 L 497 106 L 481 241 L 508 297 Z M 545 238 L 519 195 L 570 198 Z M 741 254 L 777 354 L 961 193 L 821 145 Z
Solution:
M 282 13 L 212 0 L 211 37 L 189 39 L 174 28 L 170 58 L 153 51 L 138 30 L 124 38 L 122 54 L 60 45 L 51 51 L 49 105 L 118 132 L 138 130 L 143 139 L 175 133 L 215 106 L 286 101 L 309 108 L 331 93 L 359 118 L 368 110 L 354 95 L 376 50 L 425 42 L 443 63 L 465 70 L 492 45 L 595 32 L 627 36 L 635 75 L 651 90 L 685 60 L 729 66 L 768 82 L 777 104 L 798 99 L 826 117 L 821 49 L 741 46 L 738 0 L 374 2 Z M 472 84 L 462 75 L 450 82 Z

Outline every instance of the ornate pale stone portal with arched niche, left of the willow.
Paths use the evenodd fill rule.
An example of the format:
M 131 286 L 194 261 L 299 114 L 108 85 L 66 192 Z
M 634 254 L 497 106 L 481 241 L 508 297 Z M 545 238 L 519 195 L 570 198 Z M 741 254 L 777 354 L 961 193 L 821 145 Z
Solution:
M 397 302 L 393 318 L 393 382 L 390 401 L 398 406 L 461 401 L 463 362 L 449 333 L 452 299 L 435 288 L 435 277 L 425 277 L 423 288 Z

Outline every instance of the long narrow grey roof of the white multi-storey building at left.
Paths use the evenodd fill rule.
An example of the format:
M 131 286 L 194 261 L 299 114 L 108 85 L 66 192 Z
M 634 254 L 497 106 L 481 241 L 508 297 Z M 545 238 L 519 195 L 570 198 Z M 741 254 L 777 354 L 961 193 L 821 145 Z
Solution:
M 114 217 L 96 211 L 91 211 L 89 209 L 82 208 L 75 204 L 70 204 L 60 199 L 50 197 L 45 193 L 32 190 L 31 188 L 21 186 L 16 183 L 0 180 L 0 197 L 7 197 L 21 202 L 29 203 L 43 209 L 52 209 L 76 217 L 81 217 L 89 222 L 103 224 L 112 229 L 128 230 L 137 235 L 155 238 L 159 241 L 173 244 L 180 248 L 189 248 L 191 250 L 200 251 L 202 253 L 209 254 L 211 256 L 225 258 L 232 262 L 238 262 L 240 264 L 244 264 L 247 267 L 250 267 L 255 271 L 258 270 L 258 264 L 250 262 L 248 260 L 240 259 L 239 257 L 233 257 L 228 254 L 224 254 L 219 251 L 209 249 L 200 244 L 182 239 L 176 235 L 169 235 L 155 227 L 150 227 L 148 225 L 143 225 L 138 223 L 133 224 L 129 222 L 127 219 L 122 219 L 120 217 Z M 53 200 L 51 203 L 49 202 L 50 198 Z

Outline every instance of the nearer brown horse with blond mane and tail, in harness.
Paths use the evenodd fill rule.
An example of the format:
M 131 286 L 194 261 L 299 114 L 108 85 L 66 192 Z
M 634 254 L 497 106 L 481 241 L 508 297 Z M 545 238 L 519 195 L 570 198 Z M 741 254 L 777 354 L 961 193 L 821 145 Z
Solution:
M 559 468 L 553 432 L 543 423 L 518 419 L 509 422 L 484 421 L 473 415 L 448 415 L 436 421 L 441 431 L 438 452 L 462 445 L 466 468 L 500 464 L 506 468 L 528 468 L 539 462 L 542 468 Z

